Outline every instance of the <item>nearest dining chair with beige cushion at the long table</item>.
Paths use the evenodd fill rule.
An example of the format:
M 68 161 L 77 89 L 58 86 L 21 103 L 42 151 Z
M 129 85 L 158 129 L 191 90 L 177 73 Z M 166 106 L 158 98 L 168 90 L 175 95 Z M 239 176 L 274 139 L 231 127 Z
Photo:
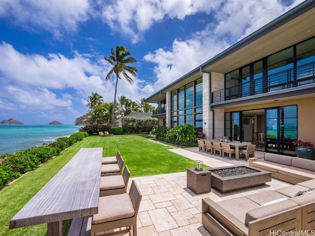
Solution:
M 102 236 L 126 233 L 130 235 L 131 230 L 132 235 L 137 236 L 137 215 L 141 198 L 141 192 L 134 180 L 131 182 L 129 194 L 99 197 L 98 213 L 92 218 L 91 236 L 99 233 Z

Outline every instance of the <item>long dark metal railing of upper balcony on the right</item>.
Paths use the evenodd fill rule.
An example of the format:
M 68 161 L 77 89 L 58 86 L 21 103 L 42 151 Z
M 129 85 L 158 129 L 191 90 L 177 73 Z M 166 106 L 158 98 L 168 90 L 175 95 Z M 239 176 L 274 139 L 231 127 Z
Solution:
M 212 103 L 315 83 L 315 62 L 212 92 Z

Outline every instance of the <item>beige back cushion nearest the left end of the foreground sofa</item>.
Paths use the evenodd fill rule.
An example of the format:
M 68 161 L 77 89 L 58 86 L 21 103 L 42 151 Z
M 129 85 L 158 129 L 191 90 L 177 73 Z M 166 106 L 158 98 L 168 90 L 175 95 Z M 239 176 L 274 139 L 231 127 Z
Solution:
M 278 213 L 283 210 L 290 209 L 292 207 L 298 207 L 299 205 L 291 200 L 285 200 L 279 203 L 270 204 L 264 207 L 258 207 L 252 209 L 246 213 L 245 224 L 248 226 L 248 223 L 260 219 L 262 217 Z

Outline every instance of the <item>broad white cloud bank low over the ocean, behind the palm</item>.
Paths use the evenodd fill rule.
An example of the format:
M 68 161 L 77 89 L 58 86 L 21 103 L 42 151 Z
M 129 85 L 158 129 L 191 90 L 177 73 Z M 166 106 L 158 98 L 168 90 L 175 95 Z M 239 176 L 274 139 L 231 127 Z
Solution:
M 102 95 L 105 102 L 114 100 L 116 80 L 104 81 L 110 69 L 105 60 L 95 62 L 92 55 L 78 52 L 72 58 L 22 54 L 5 42 L 0 44 L 0 55 L 0 107 L 4 110 L 18 107 L 38 113 L 59 110 L 61 114 L 68 111 L 77 115 L 76 103 L 86 105 L 92 92 Z M 119 80 L 117 96 L 132 100 L 144 97 L 139 92 L 144 82 L 133 79 L 133 86 L 125 78 Z M 10 106 L 2 105 L 5 103 Z

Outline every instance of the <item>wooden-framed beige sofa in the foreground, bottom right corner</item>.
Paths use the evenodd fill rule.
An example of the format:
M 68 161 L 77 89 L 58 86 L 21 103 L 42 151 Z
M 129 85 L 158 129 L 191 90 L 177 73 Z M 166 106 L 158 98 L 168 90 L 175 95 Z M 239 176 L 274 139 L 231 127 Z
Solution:
M 315 179 L 220 202 L 202 199 L 202 224 L 215 236 L 297 235 L 313 232 L 314 222 Z

